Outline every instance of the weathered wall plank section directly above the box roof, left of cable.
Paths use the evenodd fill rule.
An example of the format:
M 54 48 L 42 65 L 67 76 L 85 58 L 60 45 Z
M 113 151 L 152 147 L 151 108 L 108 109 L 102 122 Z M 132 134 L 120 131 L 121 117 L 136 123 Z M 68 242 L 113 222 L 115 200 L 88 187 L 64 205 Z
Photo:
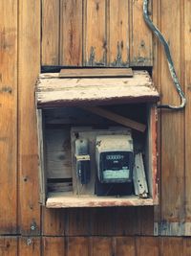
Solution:
M 43 0 L 42 25 L 43 65 L 153 64 L 142 0 Z

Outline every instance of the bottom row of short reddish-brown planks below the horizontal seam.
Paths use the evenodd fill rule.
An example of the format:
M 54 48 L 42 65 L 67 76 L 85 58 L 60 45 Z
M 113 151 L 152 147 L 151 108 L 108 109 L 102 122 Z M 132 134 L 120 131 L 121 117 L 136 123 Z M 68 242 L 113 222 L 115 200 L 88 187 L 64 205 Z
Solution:
M 42 240 L 42 241 L 41 241 Z M 0 238 L 2 256 L 190 256 L 190 238 L 44 237 Z

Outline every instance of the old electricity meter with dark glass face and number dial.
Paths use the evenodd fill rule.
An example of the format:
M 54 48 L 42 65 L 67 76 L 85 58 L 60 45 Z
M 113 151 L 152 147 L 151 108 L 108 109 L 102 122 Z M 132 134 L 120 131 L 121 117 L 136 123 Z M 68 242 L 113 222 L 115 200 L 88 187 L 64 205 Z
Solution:
M 134 147 L 131 132 L 97 136 L 96 167 L 101 183 L 132 182 Z

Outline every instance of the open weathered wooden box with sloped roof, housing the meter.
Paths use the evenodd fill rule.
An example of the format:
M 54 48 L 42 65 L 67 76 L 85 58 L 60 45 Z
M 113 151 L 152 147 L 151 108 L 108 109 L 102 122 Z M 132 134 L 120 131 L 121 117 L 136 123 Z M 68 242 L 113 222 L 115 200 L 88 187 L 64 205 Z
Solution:
M 146 71 L 135 71 L 132 78 L 61 79 L 57 73 L 41 74 L 35 96 L 43 205 L 62 208 L 158 204 L 156 103 L 159 93 Z M 106 115 L 113 113 L 114 119 L 106 118 L 101 112 L 96 114 L 100 109 Z M 76 193 L 74 132 L 107 133 L 110 128 L 120 132 L 127 129 L 123 119 L 133 120 L 130 125 L 135 151 L 144 155 L 148 197 L 96 196 L 94 180 L 85 193 Z M 145 131 L 138 131 L 137 123 L 145 126 Z M 96 167 L 94 175 L 95 170 Z

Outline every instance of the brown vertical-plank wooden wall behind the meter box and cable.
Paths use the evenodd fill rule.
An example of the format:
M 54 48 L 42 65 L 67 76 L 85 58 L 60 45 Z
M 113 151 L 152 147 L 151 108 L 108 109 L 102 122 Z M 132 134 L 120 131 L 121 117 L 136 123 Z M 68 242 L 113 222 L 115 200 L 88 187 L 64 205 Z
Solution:
M 41 64 L 111 66 L 119 42 L 119 63 L 153 64 L 161 102 L 179 103 L 141 9 L 142 0 L 0 1 L 0 255 L 191 254 L 191 239 L 183 238 L 191 236 L 190 0 L 152 7 L 188 101 L 184 111 L 159 111 L 159 206 L 48 210 L 38 203 L 33 91 Z

